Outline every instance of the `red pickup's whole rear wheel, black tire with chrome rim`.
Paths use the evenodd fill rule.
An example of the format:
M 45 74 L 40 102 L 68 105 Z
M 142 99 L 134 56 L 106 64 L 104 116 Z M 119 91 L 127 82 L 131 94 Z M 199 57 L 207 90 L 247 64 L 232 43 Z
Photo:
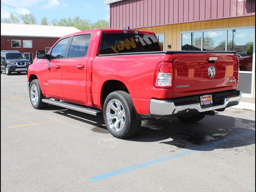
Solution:
M 103 107 L 104 122 L 108 131 L 116 138 L 134 136 L 140 129 L 130 94 L 124 91 L 110 93 Z

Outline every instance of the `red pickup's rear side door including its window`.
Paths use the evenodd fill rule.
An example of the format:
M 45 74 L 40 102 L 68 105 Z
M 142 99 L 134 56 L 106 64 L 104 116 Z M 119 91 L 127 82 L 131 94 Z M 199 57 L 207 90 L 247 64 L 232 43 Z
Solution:
M 62 92 L 64 98 L 87 102 L 86 66 L 91 34 L 74 36 L 67 58 L 62 61 Z

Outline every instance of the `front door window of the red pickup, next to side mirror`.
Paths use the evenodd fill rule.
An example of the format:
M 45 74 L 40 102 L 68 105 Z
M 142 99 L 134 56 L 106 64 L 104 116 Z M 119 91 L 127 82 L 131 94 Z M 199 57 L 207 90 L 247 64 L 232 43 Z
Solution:
M 50 55 L 51 59 L 64 58 L 67 47 L 68 47 L 69 39 L 70 37 L 66 39 L 62 39 L 54 46 Z

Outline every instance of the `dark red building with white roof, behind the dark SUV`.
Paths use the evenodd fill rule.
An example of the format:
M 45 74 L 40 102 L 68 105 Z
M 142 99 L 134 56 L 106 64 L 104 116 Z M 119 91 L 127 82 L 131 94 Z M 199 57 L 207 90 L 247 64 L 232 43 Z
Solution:
M 78 31 L 66 26 L 1 23 L 1 50 L 18 50 L 33 61 L 36 51 L 48 52 L 60 37 Z

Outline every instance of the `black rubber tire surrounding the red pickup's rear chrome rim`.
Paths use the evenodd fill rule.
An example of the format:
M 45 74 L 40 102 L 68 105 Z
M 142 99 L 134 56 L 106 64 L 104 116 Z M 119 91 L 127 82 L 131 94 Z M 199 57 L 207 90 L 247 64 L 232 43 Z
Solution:
M 109 102 L 112 100 L 117 100 L 118 102 L 120 102 L 122 104 L 121 107 L 125 112 L 124 127 L 120 131 L 115 131 L 114 129 L 112 129 L 107 120 L 107 106 Z M 116 138 L 124 139 L 124 138 L 134 136 L 135 134 L 138 133 L 140 129 L 141 121 L 138 120 L 136 116 L 136 112 L 132 103 L 132 98 L 130 94 L 124 91 L 115 91 L 110 93 L 106 97 L 106 100 L 104 102 L 104 107 L 103 107 L 103 117 L 104 117 L 104 122 L 108 131 Z M 113 123 L 113 121 L 111 123 Z M 121 127 L 121 124 L 120 124 L 120 127 Z

